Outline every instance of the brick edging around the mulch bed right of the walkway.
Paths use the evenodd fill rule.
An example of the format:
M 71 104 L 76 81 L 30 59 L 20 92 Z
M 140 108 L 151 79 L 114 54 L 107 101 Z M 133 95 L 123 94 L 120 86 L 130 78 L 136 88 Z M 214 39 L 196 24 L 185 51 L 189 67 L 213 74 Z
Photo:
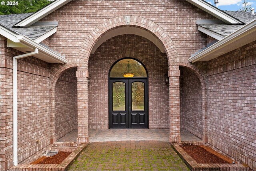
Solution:
M 190 170 L 215 170 L 215 171 L 248 171 L 249 167 L 242 164 L 200 164 L 197 163 L 178 143 L 171 143 L 173 149 L 182 158 Z

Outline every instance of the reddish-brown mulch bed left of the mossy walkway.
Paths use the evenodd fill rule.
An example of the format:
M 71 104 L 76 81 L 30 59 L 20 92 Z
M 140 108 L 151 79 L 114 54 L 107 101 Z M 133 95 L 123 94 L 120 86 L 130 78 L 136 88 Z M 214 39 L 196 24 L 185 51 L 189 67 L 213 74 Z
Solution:
M 32 165 L 38 165 L 38 164 L 60 164 L 68 155 L 70 155 L 71 152 L 66 151 L 59 151 L 58 154 L 52 156 L 52 157 L 40 157 L 36 161 L 33 161 Z

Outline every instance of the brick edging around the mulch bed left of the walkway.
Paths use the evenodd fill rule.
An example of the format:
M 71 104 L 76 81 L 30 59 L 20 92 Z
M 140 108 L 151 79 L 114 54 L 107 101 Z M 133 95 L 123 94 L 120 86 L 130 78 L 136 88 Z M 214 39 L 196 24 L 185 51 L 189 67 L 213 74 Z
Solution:
M 66 159 L 64 159 L 60 164 L 53 165 L 17 165 L 11 167 L 10 171 L 66 171 L 68 167 L 76 160 L 78 155 L 84 150 L 87 144 L 81 144 L 78 146 Z

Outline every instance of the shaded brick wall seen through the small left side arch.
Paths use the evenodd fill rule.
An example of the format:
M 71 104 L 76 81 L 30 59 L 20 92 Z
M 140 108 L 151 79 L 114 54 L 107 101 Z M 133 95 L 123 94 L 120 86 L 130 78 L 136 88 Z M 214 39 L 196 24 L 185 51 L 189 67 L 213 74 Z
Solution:
M 55 87 L 56 140 L 77 129 L 76 68 L 62 73 Z

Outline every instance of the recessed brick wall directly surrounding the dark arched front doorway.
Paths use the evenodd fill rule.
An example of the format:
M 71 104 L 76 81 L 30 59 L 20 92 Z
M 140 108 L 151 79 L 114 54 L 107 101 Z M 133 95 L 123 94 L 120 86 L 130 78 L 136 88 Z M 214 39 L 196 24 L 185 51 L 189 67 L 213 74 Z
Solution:
M 108 72 L 112 64 L 126 56 L 139 59 L 148 70 L 149 128 L 169 128 L 169 94 L 164 75 L 168 72 L 165 53 L 148 39 L 137 35 L 120 35 L 103 43 L 89 60 L 88 87 L 89 128 L 108 128 Z M 124 69 L 125 70 L 125 69 Z

